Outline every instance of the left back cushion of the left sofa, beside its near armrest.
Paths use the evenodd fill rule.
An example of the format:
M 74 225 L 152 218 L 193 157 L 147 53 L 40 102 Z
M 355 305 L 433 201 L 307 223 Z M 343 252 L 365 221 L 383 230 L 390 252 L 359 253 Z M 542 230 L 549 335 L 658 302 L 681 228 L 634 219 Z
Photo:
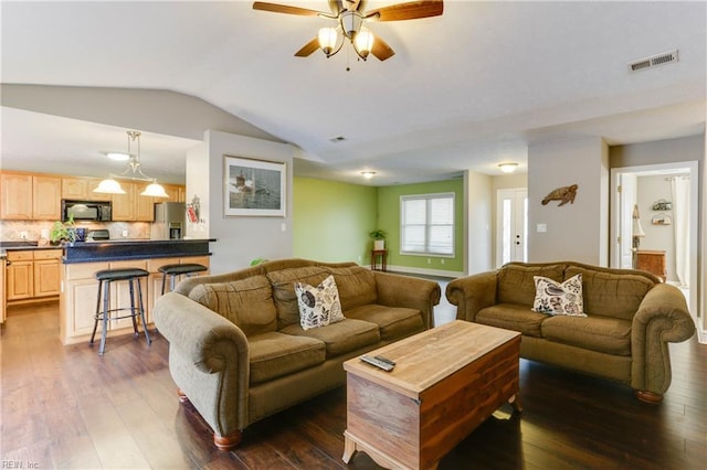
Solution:
M 246 337 L 277 329 L 273 292 L 265 276 L 200 284 L 189 292 L 189 298 L 226 318 Z

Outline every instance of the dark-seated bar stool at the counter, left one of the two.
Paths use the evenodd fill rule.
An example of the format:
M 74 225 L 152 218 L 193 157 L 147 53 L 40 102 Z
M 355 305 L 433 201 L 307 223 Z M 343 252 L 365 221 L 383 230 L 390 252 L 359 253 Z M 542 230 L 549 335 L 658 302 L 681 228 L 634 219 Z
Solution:
M 104 269 L 97 271 L 95 278 L 98 279 L 98 299 L 96 301 L 96 316 L 93 324 L 93 334 L 91 335 L 91 344 L 96 335 L 96 329 L 98 328 L 98 321 L 103 322 L 103 331 L 101 332 L 101 346 L 98 348 L 98 354 L 103 355 L 106 349 L 106 334 L 108 332 L 108 320 L 120 320 L 124 318 L 133 319 L 133 330 L 137 337 L 137 319 L 139 316 L 143 321 L 143 329 L 145 330 L 145 338 L 147 339 L 147 345 L 152 343 L 150 334 L 147 331 L 147 321 L 145 319 L 145 308 L 143 307 L 143 289 L 140 287 L 140 278 L 148 277 L 149 273 L 139 268 L 125 268 L 125 269 Z M 127 280 L 130 289 L 130 307 L 118 307 L 110 309 L 110 284 L 114 281 Z M 137 281 L 137 292 L 134 288 L 134 281 Z M 103 293 L 103 310 L 101 309 Z M 137 293 L 137 307 L 135 301 L 135 295 Z M 129 314 L 123 314 L 118 317 L 112 317 L 112 312 L 119 312 L 129 310 Z

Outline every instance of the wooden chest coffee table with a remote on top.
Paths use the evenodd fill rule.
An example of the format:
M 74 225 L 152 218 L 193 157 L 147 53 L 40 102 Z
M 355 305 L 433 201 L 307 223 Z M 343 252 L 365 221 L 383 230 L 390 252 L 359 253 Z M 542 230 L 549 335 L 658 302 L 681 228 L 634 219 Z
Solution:
M 346 463 L 361 450 L 382 467 L 434 469 L 498 407 L 520 410 L 518 332 L 455 320 L 369 355 L 395 368 L 344 363 Z

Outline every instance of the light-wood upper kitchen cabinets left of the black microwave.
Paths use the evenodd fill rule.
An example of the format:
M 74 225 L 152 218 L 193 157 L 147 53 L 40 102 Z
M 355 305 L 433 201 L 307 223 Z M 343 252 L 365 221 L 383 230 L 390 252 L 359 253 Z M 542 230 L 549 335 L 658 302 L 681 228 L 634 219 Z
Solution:
M 56 221 L 61 218 L 62 180 L 57 177 L 3 172 L 0 174 L 0 218 Z

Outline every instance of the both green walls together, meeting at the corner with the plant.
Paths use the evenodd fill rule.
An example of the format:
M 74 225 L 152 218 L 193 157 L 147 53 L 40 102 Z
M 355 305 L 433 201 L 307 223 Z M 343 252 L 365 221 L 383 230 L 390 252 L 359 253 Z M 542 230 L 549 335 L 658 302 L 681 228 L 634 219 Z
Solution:
M 400 196 L 455 193 L 455 257 L 400 255 Z M 293 183 L 293 253 L 321 261 L 370 264 L 374 228 L 388 233 L 388 264 L 445 271 L 464 270 L 464 182 L 461 179 L 393 186 L 365 186 L 295 178 Z M 428 259 L 430 263 L 428 263 Z

